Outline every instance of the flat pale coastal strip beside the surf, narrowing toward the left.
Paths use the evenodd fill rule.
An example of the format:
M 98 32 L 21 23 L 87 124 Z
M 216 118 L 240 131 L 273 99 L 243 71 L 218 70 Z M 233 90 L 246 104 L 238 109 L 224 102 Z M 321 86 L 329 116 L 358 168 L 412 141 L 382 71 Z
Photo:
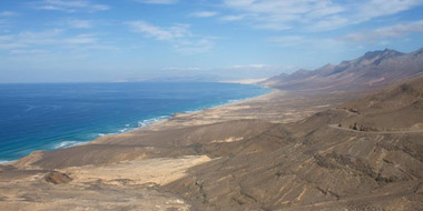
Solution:
M 52 152 L 83 145 L 102 144 L 107 143 L 110 139 L 119 140 L 125 139 L 125 137 L 128 135 L 148 133 L 151 131 L 167 131 L 235 120 L 262 120 L 272 123 L 291 123 L 309 117 L 317 111 L 327 109 L 332 104 L 337 104 L 338 102 L 345 101 L 345 97 L 342 94 L 333 94 L 331 99 L 317 100 L 312 97 L 307 100 L 307 98 L 308 97 L 296 96 L 296 93 L 283 90 L 269 89 L 268 93 L 260 96 L 205 108 L 197 111 L 174 113 L 169 115 L 168 119 L 159 120 L 145 127 L 134 128 L 121 133 L 105 134 L 67 148 L 36 150 L 27 157 L 32 157 L 39 152 Z M 329 101 L 329 103 L 327 103 L 327 101 Z M 0 163 L 0 165 L 16 164 L 27 157 L 22 157 L 10 162 Z

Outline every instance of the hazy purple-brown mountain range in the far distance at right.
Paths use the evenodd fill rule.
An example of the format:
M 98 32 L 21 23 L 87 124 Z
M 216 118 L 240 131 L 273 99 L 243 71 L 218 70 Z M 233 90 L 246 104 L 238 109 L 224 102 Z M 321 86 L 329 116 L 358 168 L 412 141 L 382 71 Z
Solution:
M 395 50 L 371 51 L 364 56 L 326 64 L 313 71 L 298 70 L 273 77 L 262 84 L 291 91 L 352 91 L 377 88 L 423 73 L 423 48 L 402 53 Z

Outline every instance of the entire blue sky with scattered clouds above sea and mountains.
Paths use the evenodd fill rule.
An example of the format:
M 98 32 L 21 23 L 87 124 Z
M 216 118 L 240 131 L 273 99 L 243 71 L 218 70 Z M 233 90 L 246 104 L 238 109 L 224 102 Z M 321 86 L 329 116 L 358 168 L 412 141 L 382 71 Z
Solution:
M 259 79 L 423 47 L 423 0 L 1 0 L 0 82 Z

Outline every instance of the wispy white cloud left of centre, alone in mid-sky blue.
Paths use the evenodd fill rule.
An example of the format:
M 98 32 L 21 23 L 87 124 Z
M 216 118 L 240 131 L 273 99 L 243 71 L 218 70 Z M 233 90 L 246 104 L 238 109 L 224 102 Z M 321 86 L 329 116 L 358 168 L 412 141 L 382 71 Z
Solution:
M 134 32 L 144 34 L 159 41 L 167 41 L 180 53 L 203 53 L 213 49 L 212 38 L 195 36 L 189 24 L 174 24 L 173 27 L 158 27 L 144 20 L 126 22 Z

